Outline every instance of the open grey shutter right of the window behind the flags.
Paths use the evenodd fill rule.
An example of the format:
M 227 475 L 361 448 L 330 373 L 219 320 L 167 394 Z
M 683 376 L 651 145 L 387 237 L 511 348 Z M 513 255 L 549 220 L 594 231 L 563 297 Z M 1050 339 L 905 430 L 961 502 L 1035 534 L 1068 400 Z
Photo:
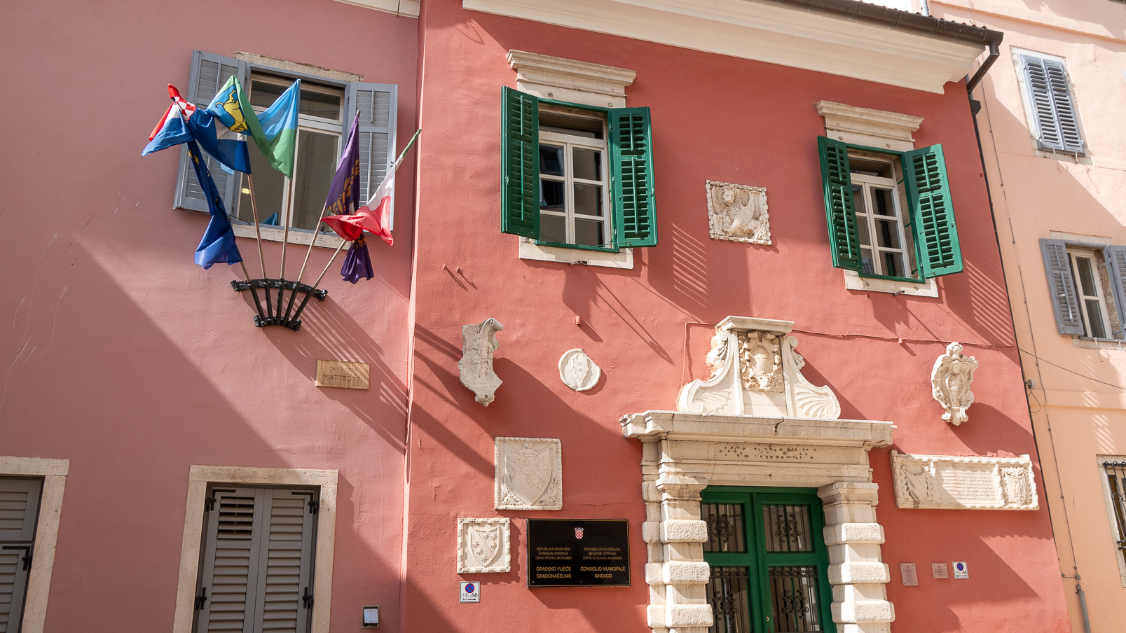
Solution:
M 363 202 L 367 202 L 368 197 L 375 193 L 397 157 L 395 152 L 397 103 L 399 87 L 392 83 L 352 82 L 345 92 L 342 118 L 346 139 L 340 144 L 340 150 L 343 151 L 348 126 L 359 110 L 359 193 Z M 393 229 L 394 205 L 390 224 L 387 228 Z

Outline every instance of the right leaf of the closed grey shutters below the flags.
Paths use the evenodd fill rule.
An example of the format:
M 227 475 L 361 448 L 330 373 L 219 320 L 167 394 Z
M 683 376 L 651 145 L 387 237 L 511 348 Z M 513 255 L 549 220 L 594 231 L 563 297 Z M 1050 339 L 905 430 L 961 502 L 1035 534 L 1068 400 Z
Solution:
M 313 522 L 310 495 L 263 490 L 262 544 L 258 560 L 256 631 L 306 633 L 313 595 Z

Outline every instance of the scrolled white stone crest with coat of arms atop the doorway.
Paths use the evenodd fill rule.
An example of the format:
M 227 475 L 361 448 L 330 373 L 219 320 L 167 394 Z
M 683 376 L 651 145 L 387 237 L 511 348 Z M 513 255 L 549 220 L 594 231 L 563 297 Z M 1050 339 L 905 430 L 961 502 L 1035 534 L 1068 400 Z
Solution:
M 837 419 L 841 407 L 829 387 L 802 376 L 805 359 L 787 336 L 794 324 L 730 316 L 715 326 L 706 362 L 712 377 L 680 389 L 677 410 L 694 414 Z

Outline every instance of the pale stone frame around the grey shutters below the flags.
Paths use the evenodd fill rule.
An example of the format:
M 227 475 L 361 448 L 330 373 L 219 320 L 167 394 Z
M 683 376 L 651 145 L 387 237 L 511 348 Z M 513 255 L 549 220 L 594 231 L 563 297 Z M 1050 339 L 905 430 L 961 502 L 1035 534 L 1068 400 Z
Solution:
M 209 483 L 251 486 L 312 486 L 320 488 L 316 513 L 316 541 L 313 562 L 313 617 L 310 633 L 329 633 L 332 605 L 332 554 L 337 523 L 336 470 L 289 468 L 248 468 L 194 464 L 188 474 L 188 503 L 184 516 L 184 544 L 180 549 L 180 575 L 176 588 L 176 614 L 172 633 L 193 633 L 199 557 L 204 546 L 204 500 Z M 30 632 L 28 632 L 30 633 Z M 38 632 L 35 632 L 38 633 Z

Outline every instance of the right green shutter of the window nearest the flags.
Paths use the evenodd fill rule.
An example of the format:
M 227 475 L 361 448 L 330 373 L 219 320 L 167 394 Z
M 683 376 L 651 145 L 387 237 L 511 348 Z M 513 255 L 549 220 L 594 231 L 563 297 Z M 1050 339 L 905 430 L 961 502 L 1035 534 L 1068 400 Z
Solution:
M 649 108 L 617 108 L 608 117 L 615 246 L 656 246 Z

